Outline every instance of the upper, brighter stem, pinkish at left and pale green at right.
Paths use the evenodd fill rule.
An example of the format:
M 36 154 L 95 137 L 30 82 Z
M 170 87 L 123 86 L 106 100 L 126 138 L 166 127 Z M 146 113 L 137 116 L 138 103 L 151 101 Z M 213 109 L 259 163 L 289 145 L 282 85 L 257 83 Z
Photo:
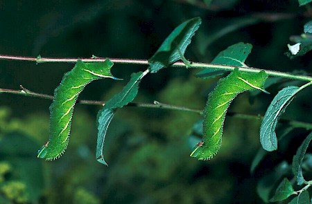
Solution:
M 10 55 L 0 55 L 0 59 L 8 59 L 8 60 L 19 60 L 19 61 L 31 61 L 36 63 L 44 63 L 44 62 L 69 62 L 75 63 L 78 58 L 46 58 L 46 57 L 21 57 L 21 56 L 10 56 Z M 118 58 L 102 58 L 102 57 L 92 57 L 92 58 L 80 58 L 83 62 L 103 62 L 105 59 L 110 59 L 110 61 L 116 64 L 142 64 L 148 65 L 148 60 L 146 59 L 118 59 Z M 175 62 L 171 66 L 174 67 L 184 67 L 187 68 L 184 62 Z M 191 63 L 191 68 L 214 68 L 223 71 L 233 71 L 234 68 L 238 68 L 236 66 L 222 65 L 222 64 L 207 64 L 200 62 Z M 266 73 L 270 77 L 282 77 L 291 80 L 301 80 L 305 82 L 311 82 L 312 77 L 306 75 L 294 75 L 291 73 L 283 73 L 279 71 L 271 71 L 267 69 L 261 68 L 252 68 L 252 67 L 239 67 L 239 70 L 245 71 L 248 73 L 259 73 L 259 71 L 266 71 Z

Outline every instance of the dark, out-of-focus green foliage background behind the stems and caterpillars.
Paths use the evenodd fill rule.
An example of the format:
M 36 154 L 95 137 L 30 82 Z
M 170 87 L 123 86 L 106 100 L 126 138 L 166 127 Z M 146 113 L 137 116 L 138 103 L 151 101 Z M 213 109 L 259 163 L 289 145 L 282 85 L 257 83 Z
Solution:
M 311 52 L 293 60 L 284 55 L 290 37 L 301 35 L 311 20 L 309 5 L 299 7 L 296 0 L 12 0 L 0 1 L 0 11 L 2 55 L 149 59 L 173 28 L 199 16 L 202 26 L 186 51 L 187 59 L 211 62 L 221 50 L 243 41 L 253 45 L 248 66 L 311 73 Z M 53 94 L 72 66 L 1 61 L 0 88 L 19 89 L 22 84 Z M 125 80 L 92 82 L 80 98 L 108 100 L 131 73 L 144 69 L 116 65 L 112 74 Z M 197 72 L 164 68 L 147 76 L 135 102 L 157 100 L 202 109 L 217 79 L 196 78 Z M 239 95 L 229 111 L 263 114 L 281 86 L 268 87 L 272 94 L 256 95 L 252 104 L 247 93 Z M 293 100 L 284 118 L 311 122 L 307 115 L 312 113 L 312 95 L 307 91 Z M 259 120 L 228 117 L 218 156 L 198 161 L 189 157 L 188 141 L 200 115 L 125 107 L 107 131 L 105 167 L 95 159 L 96 112 L 101 107 L 77 104 L 69 149 L 62 158 L 46 162 L 36 154 L 48 138 L 51 101 L 0 97 L 0 203 L 263 203 L 257 185 L 258 190 L 263 184 L 265 191 L 267 186 L 274 191 L 281 172 L 291 174 L 293 155 L 307 135 L 304 129 L 292 131 L 250 174 L 259 148 Z M 279 164 L 284 164 L 283 171 Z M 304 165 L 309 170 L 311 159 Z M 275 185 L 265 179 L 276 180 Z

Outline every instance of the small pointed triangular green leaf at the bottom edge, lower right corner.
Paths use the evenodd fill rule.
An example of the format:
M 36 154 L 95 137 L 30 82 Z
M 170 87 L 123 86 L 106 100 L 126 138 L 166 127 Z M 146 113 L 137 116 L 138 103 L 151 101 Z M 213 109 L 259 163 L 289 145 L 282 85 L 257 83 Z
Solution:
M 287 178 L 284 178 L 276 189 L 275 195 L 270 202 L 283 201 L 294 194 L 293 186 Z

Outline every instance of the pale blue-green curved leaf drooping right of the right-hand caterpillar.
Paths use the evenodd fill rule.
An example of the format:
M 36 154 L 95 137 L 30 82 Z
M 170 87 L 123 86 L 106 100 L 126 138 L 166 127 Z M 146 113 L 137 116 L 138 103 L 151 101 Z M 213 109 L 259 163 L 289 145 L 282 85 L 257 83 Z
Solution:
M 270 106 L 268 106 L 260 128 L 260 142 L 263 149 L 266 149 L 266 151 L 274 151 L 277 149 L 275 127 L 278 119 L 280 115 L 284 113 L 288 104 L 291 103 L 295 94 L 309 85 L 311 85 L 311 82 L 300 88 L 297 86 L 288 86 L 281 89 L 281 91 L 275 95 Z

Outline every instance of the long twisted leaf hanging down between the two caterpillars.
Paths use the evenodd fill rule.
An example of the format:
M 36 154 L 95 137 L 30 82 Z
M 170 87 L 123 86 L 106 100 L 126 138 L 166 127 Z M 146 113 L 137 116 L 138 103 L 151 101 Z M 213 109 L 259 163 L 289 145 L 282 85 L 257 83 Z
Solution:
M 107 165 L 104 160 L 103 155 L 103 146 L 105 141 L 106 132 L 112 118 L 114 117 L 114 112 L 117 108 L 122 108 L 127 105 L 129 102 L 135 99 L 137 92 L 139 90 L 139 83 L 141 79 L 148 73 L 148 70 L 145 72 L 132 73 L 131 79 L 123 87 L 123 90 L 120 93 L 114 95 L 109 101 L 105 103 L 103 109 L 98 111 L 98 139 L 96 141 L 96 160 L 103 165 Z

